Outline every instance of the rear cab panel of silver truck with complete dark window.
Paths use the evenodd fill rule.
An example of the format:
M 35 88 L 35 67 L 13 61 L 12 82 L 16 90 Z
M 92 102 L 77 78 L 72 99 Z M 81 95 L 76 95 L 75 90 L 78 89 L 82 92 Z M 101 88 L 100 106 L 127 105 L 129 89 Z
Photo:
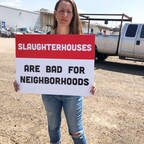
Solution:
M 119 55 L 125 57 L 134 57 L 135 42 L 137 39 L 138 25 L 128 24 L 125 27 L 125 33 L 122 33 Z

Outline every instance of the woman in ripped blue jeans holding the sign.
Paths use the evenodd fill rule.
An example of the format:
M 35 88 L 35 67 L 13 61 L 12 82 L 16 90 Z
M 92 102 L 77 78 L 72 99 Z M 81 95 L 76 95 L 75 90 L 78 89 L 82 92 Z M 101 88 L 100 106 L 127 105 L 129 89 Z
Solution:
M 59 0 L 54 9 L 54 25 L 50 34 L 82 34 L 76 4 L 73 0 Z M 17 91 L 18 85 L 14 83 Z M 91 93 L 95 94 L 92 87 Z M 43 94 L 42 100 L 48 119 L 48 131 L 51 144 L 60 144 L 60 125 L 62 108 L 65 113 L 69 134 L 74 144 L 86 144 L 86 137 L 82 126 L 82 96 L 65 96 Z

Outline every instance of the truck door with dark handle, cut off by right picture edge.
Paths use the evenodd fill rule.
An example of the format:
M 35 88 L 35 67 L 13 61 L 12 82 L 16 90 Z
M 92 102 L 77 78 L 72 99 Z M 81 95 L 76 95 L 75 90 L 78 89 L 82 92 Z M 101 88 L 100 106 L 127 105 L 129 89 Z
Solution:
M 144 25 L 140 25 L 140 32 L 138 34 L 136 45 L 134 49 L 134 57 L 144 59 Z

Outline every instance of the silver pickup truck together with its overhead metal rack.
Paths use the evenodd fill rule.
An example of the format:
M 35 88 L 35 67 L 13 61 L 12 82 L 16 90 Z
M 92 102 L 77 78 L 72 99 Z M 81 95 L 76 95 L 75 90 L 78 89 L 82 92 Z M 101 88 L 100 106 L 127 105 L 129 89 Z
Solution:
M 80 16 L 81 20 L 88 21 L 88 25 L 90 25 L 91 20 L 104 21 L 105 24 L 108 24 L 109 21 L 120 22 L 119 27 L 107 27 L 110 31 L 116 32 L 117 35 L 107 35 L 106 32 L 96 35 L 95 59 L 103 61 L 108 56 L 119 56 L 122 59 L 144 61 L 144 24 L 132 23 L 132 17 L 124 13 L 80 14 Z M 102 26 L 100 30 L 102 30 Z

